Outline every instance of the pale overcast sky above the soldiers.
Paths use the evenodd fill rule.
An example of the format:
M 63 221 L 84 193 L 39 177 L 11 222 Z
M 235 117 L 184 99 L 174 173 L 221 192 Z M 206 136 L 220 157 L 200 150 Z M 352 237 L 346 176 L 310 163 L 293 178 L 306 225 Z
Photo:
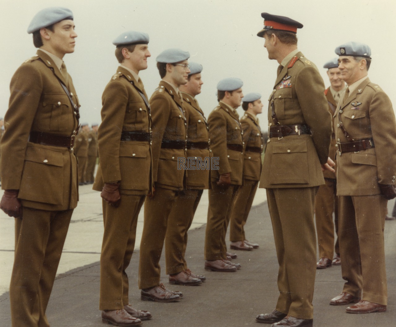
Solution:
M 82 105 L 81 122 L 101 121 L 101 95 L 118 67 L 112 40 L 126 30 L 150 36 L 148 68 L 139 74 L 149 97 L 160 81 L 156 56 L 167 48 L 181 48 L 190 52 L 190 61 L 204 67 L 197 99 L 206 116 L 217 105 L 217 82 L 226 77 L 242 79 L 243 92 L 261 93 L 266 105 L 278 63 L 268 59 L 264 39 L 256 36 L 263 28 L 262 12 L 304 25 L 297 32 L 298 48 L 317 65 L 326 87 L 329 80 L 322 66 L 336 57 L 334 49 L 348 41 L 368 44 L 371 82 L 396 106 L 394 0 L 0 0 L 0 116 L 8 108 L 13 73 L 36 53 L 27 27 L 37 11 L 49 6 L 65 6 L 74 14 L 76 47 L 63 59 Z M 242 108 L 238 111 L 242 114 Z M 259 117 L 263 130 L 266 116 Z

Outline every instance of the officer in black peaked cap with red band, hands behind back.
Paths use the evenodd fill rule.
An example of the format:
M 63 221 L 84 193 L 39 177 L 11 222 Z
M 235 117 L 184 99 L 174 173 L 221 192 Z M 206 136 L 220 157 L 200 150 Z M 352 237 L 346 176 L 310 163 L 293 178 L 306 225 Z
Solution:
M 329 164 L 334 164 L 328 158 L 331 116 L 316 66 L 297 49 L 297 29 L 303 25 L 268 13 L 261 17 L 264 29 L 257 36 L 265 38 L 268 58 L 280 64 L 269 98 L 269 141 L 260 178 L 260 187 L 267 188 L 280 295 L 276 309 L 256 320 L 274 326 L 312 326 L 314 200 L 318 186 L 324 184 L 321 165 L 331 169 Z

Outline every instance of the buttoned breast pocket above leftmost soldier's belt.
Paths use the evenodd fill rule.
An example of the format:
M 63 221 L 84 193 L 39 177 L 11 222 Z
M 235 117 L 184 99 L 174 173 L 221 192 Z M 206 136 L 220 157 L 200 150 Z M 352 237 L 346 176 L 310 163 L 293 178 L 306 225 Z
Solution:
M 72 131 L 73 117 L 73 109 L 66 94 L 46 93 L 42 97 L 42 107 L 37 112 L 36 122 L 41 131 Z

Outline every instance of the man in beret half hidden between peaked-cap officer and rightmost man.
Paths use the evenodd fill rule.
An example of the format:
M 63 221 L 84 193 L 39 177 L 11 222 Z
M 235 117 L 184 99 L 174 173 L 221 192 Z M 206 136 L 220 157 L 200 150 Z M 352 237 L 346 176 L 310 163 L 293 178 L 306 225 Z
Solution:
M 341 93 L 345 90 L 345 82 L 341 78 L 341 71 L 338 69 L 338 58 L 328 61 L 323 68 L 327 68 L 330 86 L 325 89 L 329 112 L 334 115 L 335 108 L 340 99 Z M 334 118 L 333 118 L 334 131 Z M 331 134 L 329 157 L 335 161 L 335 133 Z M 336 166 L 334 170 L 337 171 Z M 331 264 L 339 266 L 341 264 L 339 241 L 335 242 L 334 247 L 334 224 L 335 232 L 338 234 L 338 197 L 337 197 L 337 178 L 336 173 L 325 170 L 323 172 L 325 184 L 319 186 L 315 197 L 315 220 L 316 233 L 318 234 L 319 261 L 316 262 L 317 269 L 324 269 Z M 334 224 L 333 224 L 334 212 Z M 333 253 L 335 249 L 335 258 Z M 331 261 L 333 259 L 333 261 Z

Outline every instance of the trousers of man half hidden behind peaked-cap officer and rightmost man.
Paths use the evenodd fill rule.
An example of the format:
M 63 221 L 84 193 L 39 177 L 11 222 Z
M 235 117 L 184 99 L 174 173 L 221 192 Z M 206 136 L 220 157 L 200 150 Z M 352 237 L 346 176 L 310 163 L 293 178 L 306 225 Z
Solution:
M 335 253 L 340 254 L 339 240 L 334 246 L 335 233 L 338 235 L 338 197 L 337 179 L 325 178 L 315 197 L 316 233 L 318 234 L 319 258 L 332 260 Z M 334 212 L 334 224 L 333 224 Z

